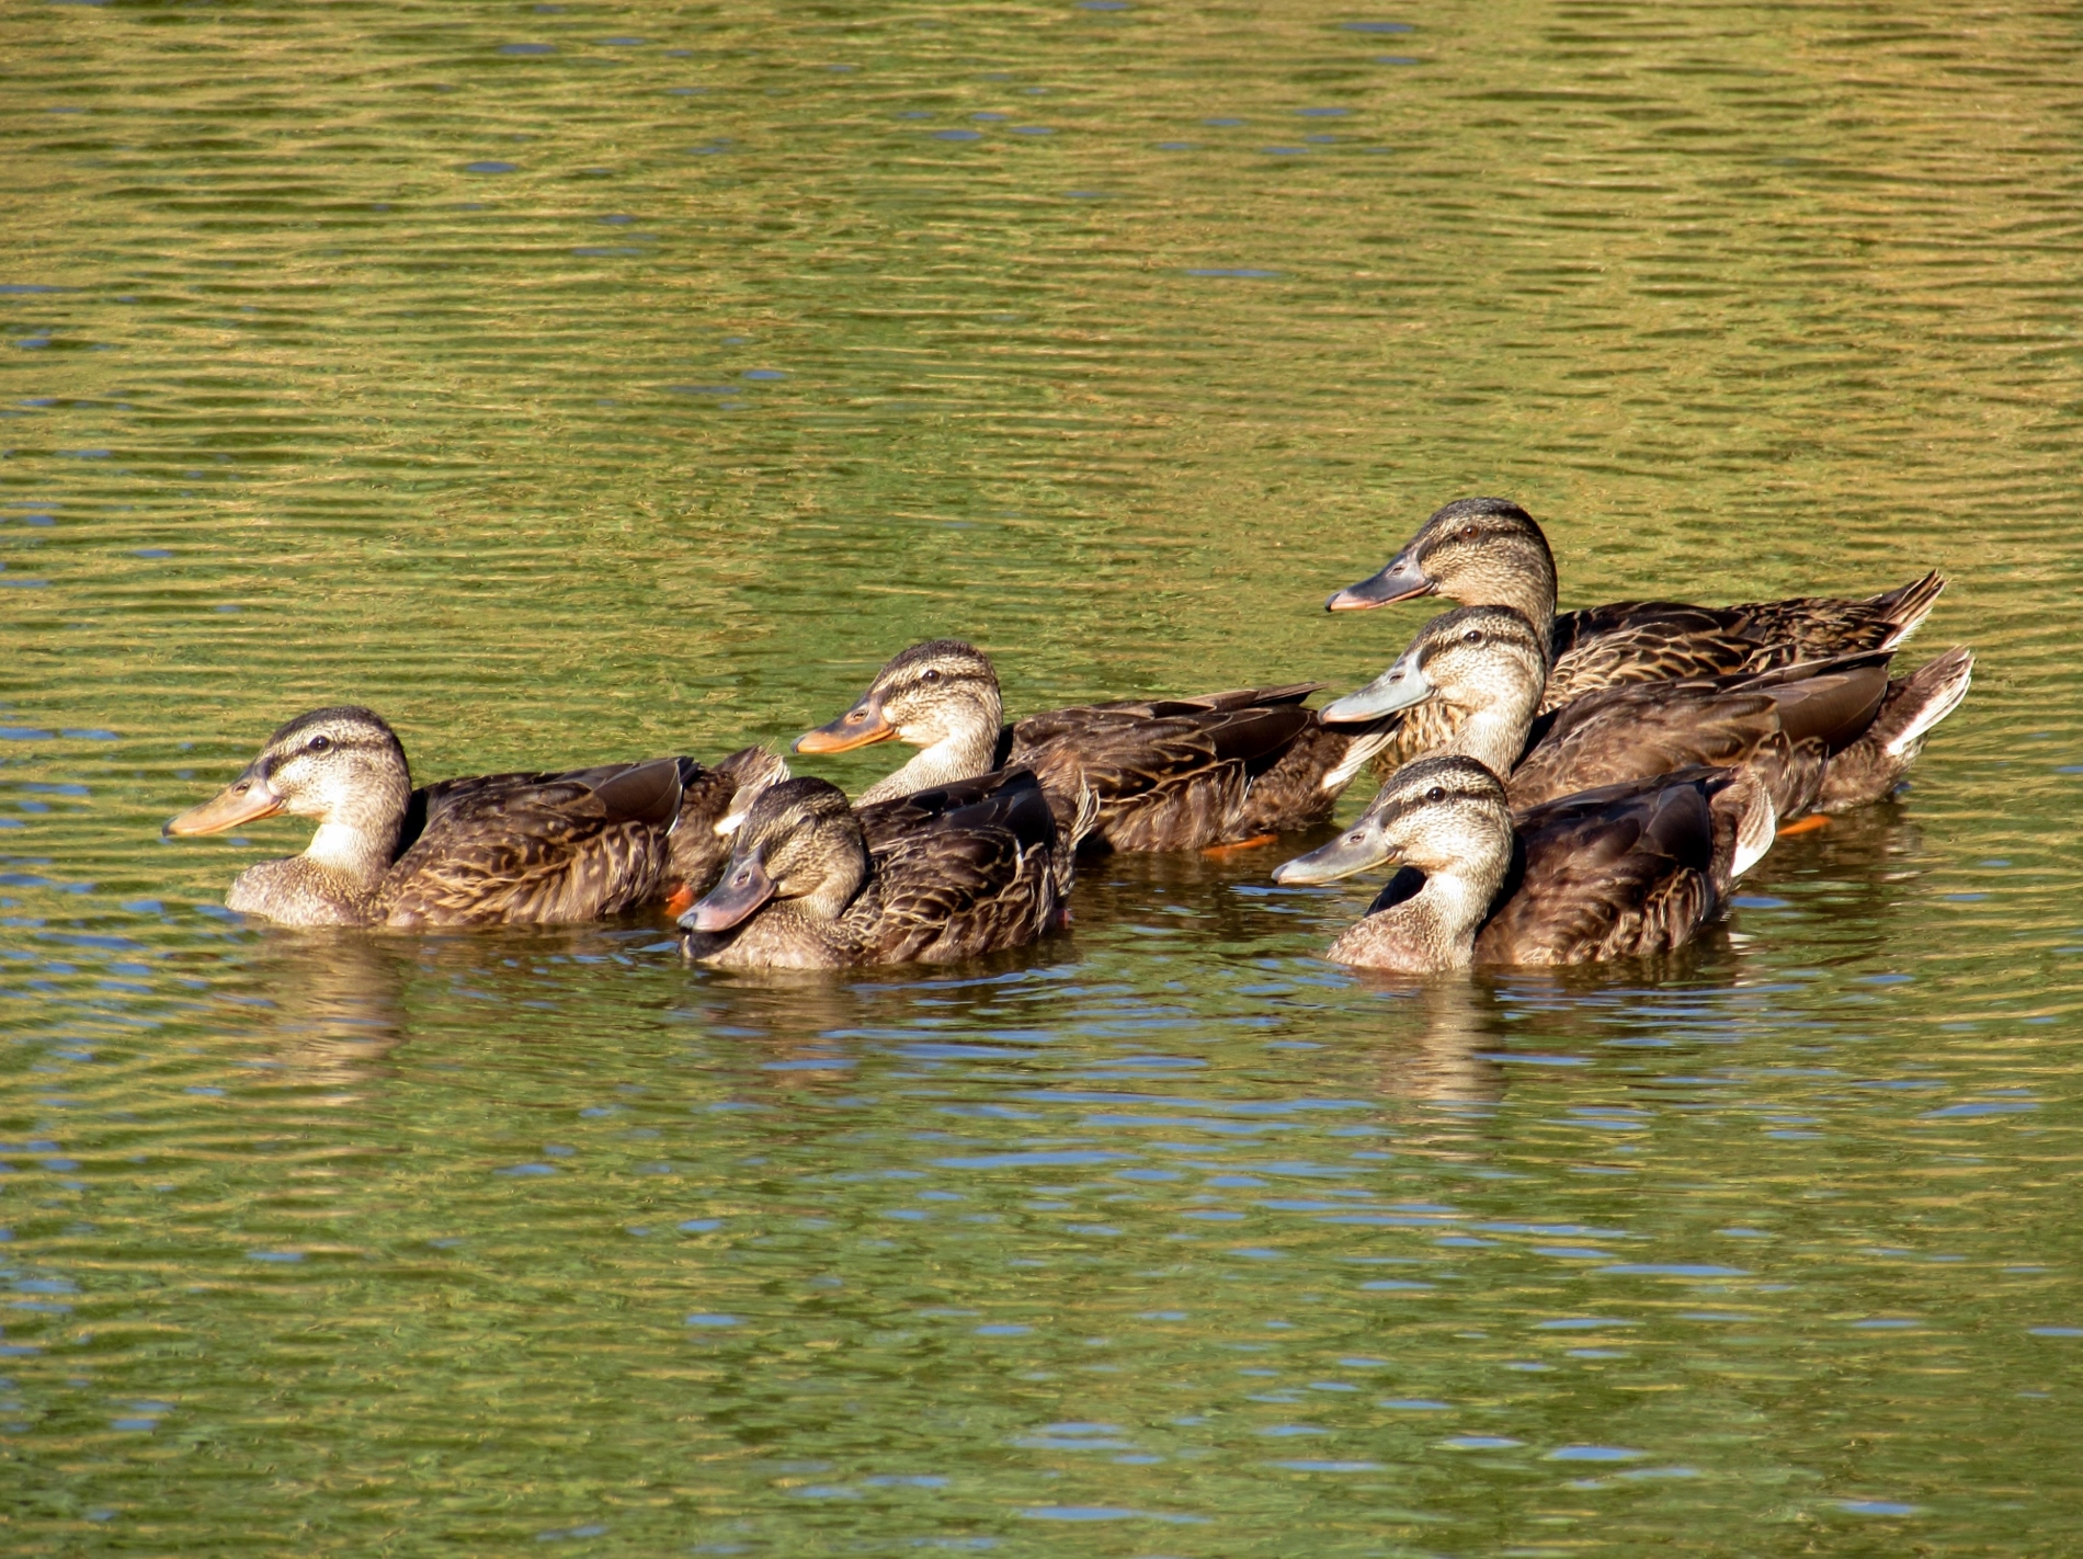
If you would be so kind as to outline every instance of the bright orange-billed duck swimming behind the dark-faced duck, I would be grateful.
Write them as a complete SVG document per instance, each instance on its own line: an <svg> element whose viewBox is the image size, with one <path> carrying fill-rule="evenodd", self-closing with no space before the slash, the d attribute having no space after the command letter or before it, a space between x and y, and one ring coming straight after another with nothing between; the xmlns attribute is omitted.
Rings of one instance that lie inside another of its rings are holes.
<svg viewBox="0 0 2083 1559"><path fill-rule="evenodd" d="M929 640L883 665L852 709L804 732L794 750L917 746L862 805L1017 765L1035 773L1060 827L1083 794L1098 796L1087 836L1098 848L1231 846L1329 819L1385 740L1364 725L1331 729L1304 709L1323 686L1077 704L1006 725L992 659L962 640Z"/></svg>

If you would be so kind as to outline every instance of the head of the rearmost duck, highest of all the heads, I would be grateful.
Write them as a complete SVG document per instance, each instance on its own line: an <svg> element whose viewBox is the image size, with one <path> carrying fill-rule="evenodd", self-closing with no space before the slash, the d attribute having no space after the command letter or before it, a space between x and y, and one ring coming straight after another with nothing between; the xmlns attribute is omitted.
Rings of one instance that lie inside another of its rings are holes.
<svg viewBox="0 0 2083 1559"><path fill-rule="evenodd" d="M1456 498L1379 573L1346 586L1323 607L1366 611L1414 596L1514 607L1546 632L1556 611L1556 561L1541 527L1510 498Z"/></svg>

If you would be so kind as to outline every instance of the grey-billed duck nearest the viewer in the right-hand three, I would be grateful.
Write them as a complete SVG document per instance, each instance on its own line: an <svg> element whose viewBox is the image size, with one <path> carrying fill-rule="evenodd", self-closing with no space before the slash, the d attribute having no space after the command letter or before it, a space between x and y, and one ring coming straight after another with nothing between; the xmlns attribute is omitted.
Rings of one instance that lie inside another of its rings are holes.
<svg viewBox="0 0 2083 1559"><path fill-rule="evenodd" d="M1764 786L1739 769L1587 790L1514 819L1498 775L1448 754L1406 763L1352 827L1273 880L1402 863L1331 944L1337 963L1406 973L1596 963L1689 942L1771 848L1775 825Z"/></svg>

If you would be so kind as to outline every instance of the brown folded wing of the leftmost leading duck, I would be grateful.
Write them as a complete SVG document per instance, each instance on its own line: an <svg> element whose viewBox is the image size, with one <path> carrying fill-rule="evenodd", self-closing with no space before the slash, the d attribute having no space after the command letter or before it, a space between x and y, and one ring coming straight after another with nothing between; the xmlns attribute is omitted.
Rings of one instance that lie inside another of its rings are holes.
<svg viewBox="0 0 2083 1559"><path fill-rule="evenodd" d="M552 923L646 902L667 867L679 773L679 759L652 759L456 782L431 796L419 838L392 865L381 919Z"/></svg>

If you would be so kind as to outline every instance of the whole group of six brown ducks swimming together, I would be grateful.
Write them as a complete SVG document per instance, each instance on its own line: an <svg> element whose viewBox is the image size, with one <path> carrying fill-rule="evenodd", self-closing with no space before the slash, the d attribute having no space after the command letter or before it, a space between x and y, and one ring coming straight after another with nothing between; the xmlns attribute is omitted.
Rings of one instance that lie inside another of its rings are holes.
<svg viewBox="0 0 2083 1559"><path fill-rule="evenodd" d="M989 659L917 644L796 740L919 748L856 800L748 746L415 790L375 713L283 725L212 800L219 834L312 817L304 855L227 905L294 925L583 921L662 907L687 955L733 967L948 963L1069 921L1079 852L1252 844L1381 792L1283 884L1398 871L1329 957L1429 971L1677 948L1796 819L1887 796L1966 696L1950 650L1889 677L1937 573L1862 600L1614 602L1556 613L1539 525L1504 498L1437 511L1329 611L1462 602L1358 692L1321 684L1081 704L1006 723Z"/></svg>

